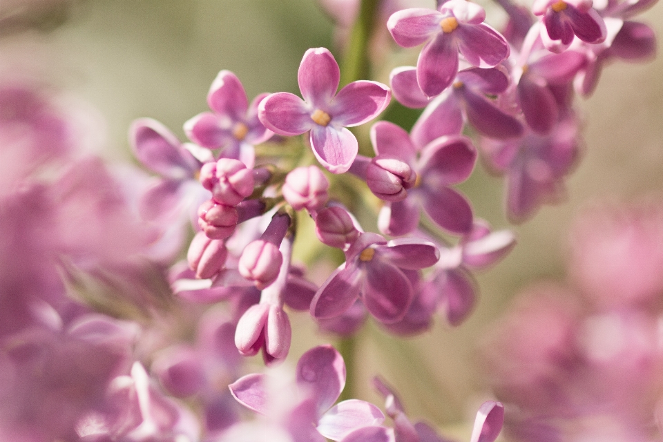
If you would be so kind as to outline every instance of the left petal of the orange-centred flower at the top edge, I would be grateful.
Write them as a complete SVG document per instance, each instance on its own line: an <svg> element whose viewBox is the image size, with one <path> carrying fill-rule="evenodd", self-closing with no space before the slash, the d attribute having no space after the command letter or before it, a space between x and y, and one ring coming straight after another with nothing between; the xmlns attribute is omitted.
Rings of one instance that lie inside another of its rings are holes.
<svg viewBox="0 0 663 442"><path fill-rule="evenodd" d="M387 29L398 46L412 48L440 32L442 15L425 8L410 8L394 12L387 20Z"/></svg>

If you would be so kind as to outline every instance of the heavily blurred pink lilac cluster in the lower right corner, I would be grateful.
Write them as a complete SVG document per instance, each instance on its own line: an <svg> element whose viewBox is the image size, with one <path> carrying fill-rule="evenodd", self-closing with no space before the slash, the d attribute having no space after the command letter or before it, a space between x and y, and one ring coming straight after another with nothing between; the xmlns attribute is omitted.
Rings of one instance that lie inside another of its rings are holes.
<svg viewBox="0 0 663 442"><path fill-rule="evenodd" d="M515 441L658 440L662 423L663 206L586 210L570 280L528 289L484 361Z"/></svg>

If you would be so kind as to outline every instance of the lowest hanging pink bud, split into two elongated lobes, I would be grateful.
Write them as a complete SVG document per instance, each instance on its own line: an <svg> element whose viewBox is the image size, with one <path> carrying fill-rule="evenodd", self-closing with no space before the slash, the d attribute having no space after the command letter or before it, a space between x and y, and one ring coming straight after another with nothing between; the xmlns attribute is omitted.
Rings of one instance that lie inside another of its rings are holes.
<svg viewBox="0 0 663 442"><path fill-rule="evenodd" d="M290 351L292 329L288 315L278 305L256 304L244 312L237 323L235 345L244 356L262 348L265 362L282 360Z"/></svg>

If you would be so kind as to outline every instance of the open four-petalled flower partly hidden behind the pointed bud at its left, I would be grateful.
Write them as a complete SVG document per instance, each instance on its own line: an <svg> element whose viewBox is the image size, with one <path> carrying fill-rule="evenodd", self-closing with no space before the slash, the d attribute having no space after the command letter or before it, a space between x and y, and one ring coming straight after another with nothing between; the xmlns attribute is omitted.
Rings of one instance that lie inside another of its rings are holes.
<svg viewBox="0 0 663 442"><path fill-rule="evenodd" d="M426 124L434 126L432 121ZM434 131L436 128L430 132ZM443 229L466 233L472 228L469 202L450 185L470 176L477 151L470 139L462 135L433 137L421 130L413 131L411 139L407 132L390 122L378 122L371 128L371 141L378 157L392 155L410 164L416 173L416 183L407 190L407 198L383 207L378 227L384 233L399 236L414 231L419 224L420 204ZM357 169L358 175L365 173Z"/></svg>

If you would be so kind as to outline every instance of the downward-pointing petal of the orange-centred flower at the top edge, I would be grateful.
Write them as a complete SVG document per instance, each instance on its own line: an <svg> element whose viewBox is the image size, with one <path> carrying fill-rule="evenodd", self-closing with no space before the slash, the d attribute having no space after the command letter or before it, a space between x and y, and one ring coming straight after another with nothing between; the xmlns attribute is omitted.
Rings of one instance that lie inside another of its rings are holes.
<svg viewBox="0 0 663 442"><path fill-rule="evenodd" d="M458 73L458 43L453 33L440 32L423 47L416 62L416 81L427 97L451 86Z"/></svg>

